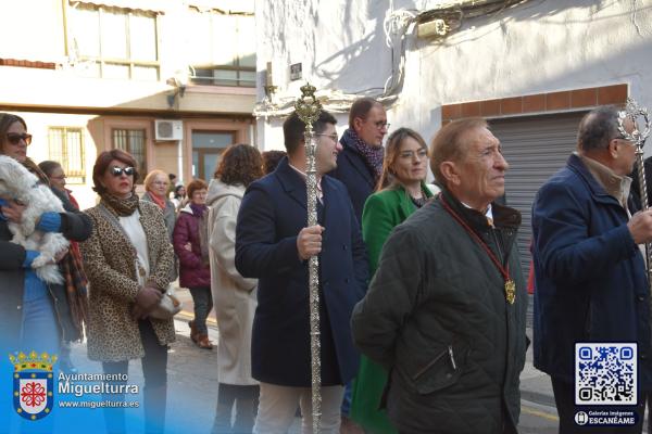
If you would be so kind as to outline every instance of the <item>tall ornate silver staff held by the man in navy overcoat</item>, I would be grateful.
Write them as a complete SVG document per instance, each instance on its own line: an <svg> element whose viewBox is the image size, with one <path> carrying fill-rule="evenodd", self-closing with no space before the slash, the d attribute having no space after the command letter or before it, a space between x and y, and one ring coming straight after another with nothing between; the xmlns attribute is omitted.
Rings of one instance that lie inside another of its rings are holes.
<svg viewBox="0 0 652 434"><path fill-rule="evenodd" d="M308 226L317 225L316 144L313 124L319 118L322 103L315 98L315 87L306 82L301 87L301 98L294 103L299 118L305 124L305 192L308 196ZM310 290L310 349L312 374L313 433L319 434L322 419L322 362L319 343L319 257L311 256L308 263Z"/></svg>

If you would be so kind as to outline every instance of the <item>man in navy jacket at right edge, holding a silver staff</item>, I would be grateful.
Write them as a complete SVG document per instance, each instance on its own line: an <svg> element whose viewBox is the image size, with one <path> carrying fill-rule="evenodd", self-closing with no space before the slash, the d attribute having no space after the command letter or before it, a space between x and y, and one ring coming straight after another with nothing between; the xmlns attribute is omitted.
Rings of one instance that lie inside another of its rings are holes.
<svg viewBox="0 0 652 434"><path fill-rule="evenodd" d="M532 205L535 366L552 376L561 433L581 430L574 420L576 342L637 342L639 391L652 390L650 288L637 245L652 241L652 212L630 217L635 152L618 131L616 108L595 108L579 125L578 151ZM642 422L644 396L638 405L619 409L638 411Z"/></svg>

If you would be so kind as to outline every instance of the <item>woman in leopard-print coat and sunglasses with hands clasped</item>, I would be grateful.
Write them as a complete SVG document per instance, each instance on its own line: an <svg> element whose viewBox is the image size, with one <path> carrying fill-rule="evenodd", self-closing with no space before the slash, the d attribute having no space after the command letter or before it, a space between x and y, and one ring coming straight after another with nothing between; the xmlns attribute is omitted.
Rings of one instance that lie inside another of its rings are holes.
<svg viewBox="0 0 652 434"><path fill-rule="evenodd" d="M170 284L174 252L160 208L135 193L137 164L130 154L102 152L92 168L99 205L87 209L93 222L80 244L91 284L88 357L104 373L127 374L140 359L145 376L146 432L162 432L167 394L167 344L174 342L172 317L152 315ZM110 395L106 399L115 399ZM104 412L109 432L124 432L124 410Z"/></svg>

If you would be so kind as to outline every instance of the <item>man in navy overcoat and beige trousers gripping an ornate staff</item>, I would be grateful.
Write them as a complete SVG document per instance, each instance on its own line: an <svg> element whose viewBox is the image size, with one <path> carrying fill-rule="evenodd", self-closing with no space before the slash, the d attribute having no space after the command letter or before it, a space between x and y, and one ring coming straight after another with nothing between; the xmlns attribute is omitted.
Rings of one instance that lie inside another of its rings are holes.
<svg viewBox="0 0 652 434"><path fill-rule="evenodd" d="M259 279L251 345L252 375L261 382L254 432L286 433L297 404L312 426L308 260L319 255L322 432L339 433L343 384L358 370L350 318L365 292L366 251L347 188L324 174L341 146L336 119L322 112L313 124L319 186L318 225L306 225L305 125L284 123L288 156L247 190L236 228L236 267Z"/></svg>

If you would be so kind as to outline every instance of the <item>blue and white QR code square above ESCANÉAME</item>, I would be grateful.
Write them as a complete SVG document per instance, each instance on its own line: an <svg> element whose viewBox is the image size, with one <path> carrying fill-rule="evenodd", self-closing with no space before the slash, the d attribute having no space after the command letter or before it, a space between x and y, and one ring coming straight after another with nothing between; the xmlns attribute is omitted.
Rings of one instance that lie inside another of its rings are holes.
<svg viewBox="0 0 652 434"><path fill-rule="evenodd" d="M576 343L575 405L636 405L636 343Z"/></svg>

